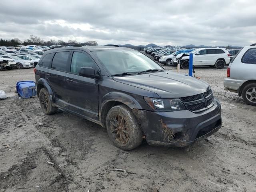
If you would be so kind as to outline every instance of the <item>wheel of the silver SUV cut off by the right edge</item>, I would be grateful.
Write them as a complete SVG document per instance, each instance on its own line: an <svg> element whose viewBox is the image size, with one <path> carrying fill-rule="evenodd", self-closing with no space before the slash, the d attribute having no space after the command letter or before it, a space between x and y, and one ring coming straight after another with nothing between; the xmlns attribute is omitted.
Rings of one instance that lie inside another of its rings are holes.
<svg viewBox="0 0 256 192"><path fill-rule="evenodd" d="M250 83L243 88L242 98L247 104L256 106L256 83Z"/></svg>

